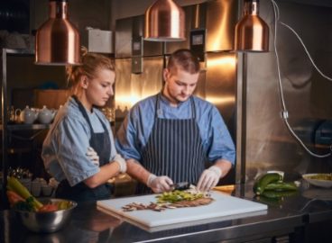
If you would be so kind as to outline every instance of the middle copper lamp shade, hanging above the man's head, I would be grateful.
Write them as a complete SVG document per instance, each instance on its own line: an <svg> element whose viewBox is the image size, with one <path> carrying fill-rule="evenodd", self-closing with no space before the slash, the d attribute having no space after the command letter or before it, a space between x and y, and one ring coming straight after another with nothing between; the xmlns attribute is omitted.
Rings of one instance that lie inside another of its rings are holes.
<svg viewBox="0 0 332 243"><path fill-rule="evenodd" d="M144 39L180 41L185 37L185 13L172 0L157 0L145 12Z"/></svg>

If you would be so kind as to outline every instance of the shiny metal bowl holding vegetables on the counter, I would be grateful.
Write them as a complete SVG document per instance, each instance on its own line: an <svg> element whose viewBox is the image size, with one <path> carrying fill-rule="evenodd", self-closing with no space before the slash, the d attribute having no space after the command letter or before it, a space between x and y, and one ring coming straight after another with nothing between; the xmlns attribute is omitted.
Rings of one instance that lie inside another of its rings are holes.
<svg viewBox="0 0 332 243"><path fill-rule="evenodd" d="M69 201L64 199L40 200L42 203ZM51 233L61 229L69 220L73 209L78 205L77 202L69 201L71 207L66 210L58 211L15 211L17 217L23 225L33 232Z"/></svg>

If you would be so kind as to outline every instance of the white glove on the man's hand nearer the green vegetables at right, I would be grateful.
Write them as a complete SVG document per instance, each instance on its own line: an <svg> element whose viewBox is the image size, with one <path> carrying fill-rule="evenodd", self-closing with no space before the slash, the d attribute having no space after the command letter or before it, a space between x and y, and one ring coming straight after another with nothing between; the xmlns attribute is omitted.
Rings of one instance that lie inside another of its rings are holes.
<svg viewBox="0 0 332 243"><path fill-rule="evenodd" d="M212 187L215 187L220 179L222 171L217 166L210 166L208 169L204 170L202 175L200 175L197 189L199 191L209 191Z"/></svg>

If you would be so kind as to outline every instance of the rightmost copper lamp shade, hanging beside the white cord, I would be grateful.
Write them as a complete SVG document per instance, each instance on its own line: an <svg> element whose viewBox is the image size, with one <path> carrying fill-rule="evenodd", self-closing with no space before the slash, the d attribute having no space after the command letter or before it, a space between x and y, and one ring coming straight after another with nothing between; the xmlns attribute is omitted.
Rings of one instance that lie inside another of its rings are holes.
<svg viewBox="0 0 332 243"><path fill-rule="evenodd" d="M269 26L258 13L258 0L244 0L244 16L235 26L235 50L269 51Z"/></svg>

